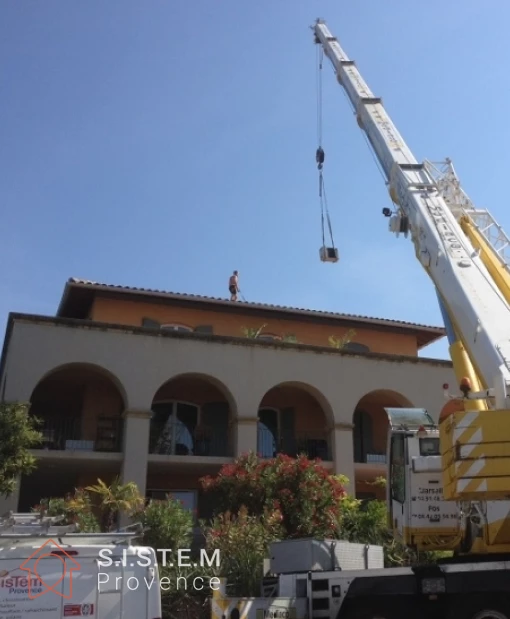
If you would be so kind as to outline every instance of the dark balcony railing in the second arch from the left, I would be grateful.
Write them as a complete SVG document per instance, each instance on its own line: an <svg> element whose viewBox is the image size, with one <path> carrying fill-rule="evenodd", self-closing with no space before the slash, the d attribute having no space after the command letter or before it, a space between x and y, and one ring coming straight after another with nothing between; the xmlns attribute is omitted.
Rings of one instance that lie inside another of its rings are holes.
<svg viewBox="0 0 510 619"><path fill-rule="evenodd" d="M229 457L228 436L213 427L192 428L178 422L151 423L149 453L163 456Z"/></svg>

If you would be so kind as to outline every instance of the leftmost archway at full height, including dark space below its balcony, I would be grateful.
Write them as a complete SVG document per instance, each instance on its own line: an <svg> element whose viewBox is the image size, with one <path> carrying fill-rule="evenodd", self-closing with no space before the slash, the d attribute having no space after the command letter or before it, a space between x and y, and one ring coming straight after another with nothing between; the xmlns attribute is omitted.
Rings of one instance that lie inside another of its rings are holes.
<svg viewBox="0 0 510 619"><path fill-rule="evenodd" d="M18 510L64 497L98 477L111 483L120 473L124 409L122 386L101 367L69 364L44 376L30 398L42 444L36 470L21 480Z"/></svg>

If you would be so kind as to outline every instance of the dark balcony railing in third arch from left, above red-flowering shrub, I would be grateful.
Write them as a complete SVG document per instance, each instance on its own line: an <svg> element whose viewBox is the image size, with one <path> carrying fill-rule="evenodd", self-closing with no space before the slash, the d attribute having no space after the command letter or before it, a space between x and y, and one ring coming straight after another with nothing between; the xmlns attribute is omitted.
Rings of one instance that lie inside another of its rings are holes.
<svg viewBox="0 0 510 619"><path fill-rule="evenodd" d="M259 426L257 452L262 458L274 458L279 453L296 457L304 454L311 460L331 460L327 439L313 433L297 433L288 437L275 437L266 427Z"/></svg>

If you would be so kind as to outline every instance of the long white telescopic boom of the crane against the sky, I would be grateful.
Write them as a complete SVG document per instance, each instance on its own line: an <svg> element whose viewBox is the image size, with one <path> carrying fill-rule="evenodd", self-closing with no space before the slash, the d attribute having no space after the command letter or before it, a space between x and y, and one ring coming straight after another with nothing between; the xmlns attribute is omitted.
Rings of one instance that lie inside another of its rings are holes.
<svg viewBox="0 0 510 619"><path fill-rule="evenodd" d="M393 231L405 231L408 224L416 256L434 282L485 389L491 390L496 408L510 408L510 307L441 196L435 179L414 158L381 99L373 95L325 23L317 20L313 30L401 209L403 219L392 219Z"/></svg>

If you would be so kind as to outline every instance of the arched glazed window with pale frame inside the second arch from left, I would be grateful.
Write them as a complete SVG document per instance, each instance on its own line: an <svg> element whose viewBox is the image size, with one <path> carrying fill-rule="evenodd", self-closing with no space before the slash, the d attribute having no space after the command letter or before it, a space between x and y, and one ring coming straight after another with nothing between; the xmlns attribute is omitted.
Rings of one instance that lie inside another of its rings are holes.
<svg viewBox="0 0 510 619"><path fill-rule="evenodd" d="M152 410L151 453L175 456L193 454L198 406L186 402L157 402Z"/></svg>

